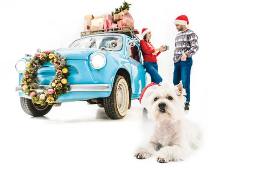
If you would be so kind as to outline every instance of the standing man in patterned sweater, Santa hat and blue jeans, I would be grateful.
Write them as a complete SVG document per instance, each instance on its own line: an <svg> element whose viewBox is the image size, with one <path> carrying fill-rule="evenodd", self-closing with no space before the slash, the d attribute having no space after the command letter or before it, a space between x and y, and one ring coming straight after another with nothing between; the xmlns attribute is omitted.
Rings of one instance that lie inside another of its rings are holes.
<svg viewBox="0 0 256 170"><path fill-rule="evenodd" d="M177 34L174 51L173 84L177 85L180 80L186 89L185 110L189 110L190 102L190 71L192 67L192 55L198 51L198 37L189 28L189 20L186 15L180 15L174 21L176 29L181 31Z"/></svg>

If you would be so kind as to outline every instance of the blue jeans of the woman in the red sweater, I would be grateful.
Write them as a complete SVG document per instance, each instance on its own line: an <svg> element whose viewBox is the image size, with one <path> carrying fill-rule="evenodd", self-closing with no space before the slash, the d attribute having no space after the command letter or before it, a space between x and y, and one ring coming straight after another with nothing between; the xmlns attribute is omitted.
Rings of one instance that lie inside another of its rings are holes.
<svg viewBox="0 0 256 170"><path fill-rule="evenodd" d="M151 77L151 82L159 84L163 81L162 77L158 74L157 62L144 62L144 68Z"/></svg>

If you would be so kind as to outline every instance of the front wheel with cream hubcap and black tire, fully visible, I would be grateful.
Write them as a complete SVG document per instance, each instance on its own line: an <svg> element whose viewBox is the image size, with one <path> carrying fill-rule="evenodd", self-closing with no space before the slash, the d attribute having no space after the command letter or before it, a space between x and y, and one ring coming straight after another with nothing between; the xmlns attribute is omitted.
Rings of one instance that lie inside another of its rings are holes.
<svg viewBox="0 0 256 170"><path fill-rule="evenodd" d="M103 98L105 113L110 119L122 119L129 106L129 89L124 77L116 75L110 96Z"/></svg>

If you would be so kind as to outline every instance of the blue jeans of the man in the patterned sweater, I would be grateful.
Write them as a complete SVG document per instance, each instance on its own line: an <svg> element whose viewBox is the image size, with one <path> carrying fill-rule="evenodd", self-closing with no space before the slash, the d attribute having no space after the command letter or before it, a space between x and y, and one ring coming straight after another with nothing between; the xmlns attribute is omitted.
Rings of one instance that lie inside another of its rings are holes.
<svg viewBox="0 0 256 170"><path fill-rule="evenodd" d="M192 57L186 61L174 63L173 84L177 85L182 82L183 88L186 90L186 103L190 102L190 71L193 64Z"/></svg>

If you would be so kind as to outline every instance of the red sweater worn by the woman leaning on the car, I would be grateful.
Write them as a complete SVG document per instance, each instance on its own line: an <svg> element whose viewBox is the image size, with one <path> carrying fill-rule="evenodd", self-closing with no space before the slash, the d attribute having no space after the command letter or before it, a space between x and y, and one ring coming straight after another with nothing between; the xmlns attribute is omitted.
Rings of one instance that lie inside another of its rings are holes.
<svg viewBox="0 0 256 170"><path fill-rule="evenodd" d="M144 62L157 62L157 56L161 53L158 51L154 52L154 46L146 42L145 40L140 40L140 48L143 55Z"/></svg>

